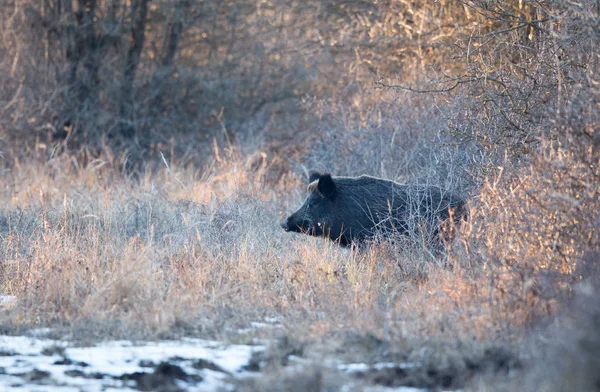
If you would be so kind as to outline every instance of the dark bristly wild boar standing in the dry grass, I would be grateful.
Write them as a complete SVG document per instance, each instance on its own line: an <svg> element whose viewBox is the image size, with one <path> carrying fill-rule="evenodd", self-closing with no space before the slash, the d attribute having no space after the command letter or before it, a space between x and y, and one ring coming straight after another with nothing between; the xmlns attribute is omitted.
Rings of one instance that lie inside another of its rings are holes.
<svg viewBox="0 0 600 392"><path fill-rule="evenodd" d="M398 184L366 175L313 173L308 192L302 207L281 227L328 237L343 246L378 234L409 234L423 224L437 236L441 222L466 215L465 201L439 187Z"/></svg>

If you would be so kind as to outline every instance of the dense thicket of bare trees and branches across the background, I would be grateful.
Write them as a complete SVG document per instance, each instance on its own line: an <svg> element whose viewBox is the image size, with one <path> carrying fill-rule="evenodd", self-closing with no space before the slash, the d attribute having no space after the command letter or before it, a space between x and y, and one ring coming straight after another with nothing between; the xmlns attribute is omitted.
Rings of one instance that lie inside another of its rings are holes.
<svg viewBox="0 0 600 392"><path fill-rule="evenodd" d="M451 133L513 155L596 112L591 1L2 3L1 132L30 147L283 138L313 124L302 97L349 102L376 82L451 91Z"/></svg>

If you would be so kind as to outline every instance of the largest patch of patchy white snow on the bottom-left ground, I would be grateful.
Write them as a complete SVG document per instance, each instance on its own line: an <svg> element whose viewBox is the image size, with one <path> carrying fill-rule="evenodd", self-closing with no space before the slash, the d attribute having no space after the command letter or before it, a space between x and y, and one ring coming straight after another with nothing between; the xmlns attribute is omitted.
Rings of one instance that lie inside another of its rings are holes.
<svg viewBox="0 0 600 392"><path fill-rule="evenodd" d="M134 390L134 381L125 382L116 377L136 372L152 373L154 367L141 365L144 365L144 362L159 364L169 361L181 367L187 375L203 378L201 382L189 384L177 380L178 384L184 384L182 386L185 386L185 389L212 391L227 386L224 381L227 373L235 376L245 375L247 372L244 372L243 366L248 364L253 352L261 350L264 350L264 346L227 346L201 339L139 344L112 341L91 347L72 347L64 341L0 335L0 369L3 370L0 373L0 390ZM51 355L44 355L42 352ZM71 363L56 364L64 358L69 359ZM194 362L199 359L210 361L224 372L194 368ZM34 370L48 372L50 376L41 377L39 380L28 380L26 376L19 376Z"/></svg>

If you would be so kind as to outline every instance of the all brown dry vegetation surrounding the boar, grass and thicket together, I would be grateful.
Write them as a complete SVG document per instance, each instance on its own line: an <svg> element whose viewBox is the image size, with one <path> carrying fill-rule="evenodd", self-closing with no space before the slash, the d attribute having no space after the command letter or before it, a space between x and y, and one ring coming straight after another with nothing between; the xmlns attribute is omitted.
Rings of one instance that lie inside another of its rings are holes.
<svg viewBox="0 0 600 392"><path fill-rule="evenodd" d="M422 3L3 0L2 328L240 339L277 316L318 358L444 387L597 387L597 306L565 308L598 290L598 4ZM444 255L291 236L310 170L438 185L470 218ZM335 389L319 363L306 383Z"/></svg>

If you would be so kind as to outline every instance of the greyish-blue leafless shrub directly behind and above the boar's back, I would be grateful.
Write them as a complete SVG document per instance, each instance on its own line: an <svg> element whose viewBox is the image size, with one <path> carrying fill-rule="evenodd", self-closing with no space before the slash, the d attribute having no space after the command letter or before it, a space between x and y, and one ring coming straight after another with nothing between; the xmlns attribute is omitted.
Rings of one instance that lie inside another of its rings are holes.
<svg viewBox="0 0 600 392"><path fill-rule="evenodd" d="M377 103L372 99L367 95L366 102L351 110L343 103L313 106L321 119L315 129L319 137L307 143L303 169L335 168L335 175L369 174L401 183L438 185L458 194L472 189L469 170L474 151L442 134L442 108L431 100L406 96Z"/></svg>

